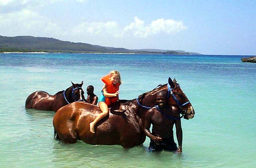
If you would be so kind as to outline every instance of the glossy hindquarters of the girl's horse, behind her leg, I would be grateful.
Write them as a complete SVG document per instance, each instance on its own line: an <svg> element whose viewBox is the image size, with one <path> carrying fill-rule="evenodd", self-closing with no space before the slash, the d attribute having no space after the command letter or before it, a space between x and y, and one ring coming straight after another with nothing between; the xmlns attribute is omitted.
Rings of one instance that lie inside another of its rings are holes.
<svg viewBox="0 0 256 168"><path fill-rule="evenodd" d="M95 118L94 111L100 113L98 106L84 102L73 102L57 110L53 117L54 130L64 143L75 143L81 134L90 133L90 122Z"/></svg>

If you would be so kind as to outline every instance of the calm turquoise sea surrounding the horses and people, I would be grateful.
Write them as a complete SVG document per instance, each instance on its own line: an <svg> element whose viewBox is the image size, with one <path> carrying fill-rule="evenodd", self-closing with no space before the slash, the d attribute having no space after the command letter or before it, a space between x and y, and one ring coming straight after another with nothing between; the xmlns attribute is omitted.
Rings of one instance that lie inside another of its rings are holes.
<svg viewBox="0 0 256 168"><path fill-rule="evenodd" d="M242 63L242 57L0 54L0 167L256 167L256 64ZM83 90L93 85L99 95L100 78L110 70L121 73L120 99L176 78L195 109L192 120L181 121L182 155L149 153L149 138L128 150L82 141L62 144L53 138L54 112L25 109L30 93L55 94L71 81L84 81Z"/></svg>

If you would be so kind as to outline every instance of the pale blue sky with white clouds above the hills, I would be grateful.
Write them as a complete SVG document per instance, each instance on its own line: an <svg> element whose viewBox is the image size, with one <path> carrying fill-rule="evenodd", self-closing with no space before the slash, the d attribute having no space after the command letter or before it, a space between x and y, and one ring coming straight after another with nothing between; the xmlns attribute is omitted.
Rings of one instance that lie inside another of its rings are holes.
<svg viewBox="0 0 256 168"><path fill-rule="evenodd" d="M256 1L0 0L0 35L256 55Z"/></svg>

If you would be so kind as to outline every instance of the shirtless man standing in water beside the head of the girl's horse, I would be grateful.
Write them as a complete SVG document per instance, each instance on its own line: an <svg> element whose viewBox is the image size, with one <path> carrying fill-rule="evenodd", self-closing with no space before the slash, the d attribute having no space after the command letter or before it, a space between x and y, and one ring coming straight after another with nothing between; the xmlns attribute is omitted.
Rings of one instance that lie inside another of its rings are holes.
<svg viewBox="0 0 256 168"><path fill-rule="evenodd" d="M182 129L179 109L168 105L167 92L157 93L157 107L146 112L144 132L150 138L150 152L172 151L182 152ZM150 132L150 125L152 133ZM176 127L176 136L179 147L177 148L173 138L173 125Z"/></svg>

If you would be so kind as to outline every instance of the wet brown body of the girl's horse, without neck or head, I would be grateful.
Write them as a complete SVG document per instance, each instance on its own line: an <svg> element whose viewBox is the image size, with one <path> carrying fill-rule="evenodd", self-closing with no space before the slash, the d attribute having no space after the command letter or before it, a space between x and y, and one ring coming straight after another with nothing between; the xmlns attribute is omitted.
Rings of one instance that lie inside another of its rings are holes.
<svg viewBox="0 0 256 168"><path fill-rule="evenodd" d="M87 144L120 144L124 147L138 145L135 140L137 136L141 139L141 130L135 130L132 116L127 116L125 113L110 112L108 116L97 123L95 134L90 133L90 122L99 113L101 111L98 106L74 102L56 112L53 126L64 143L75 143L77 140L82 140Z"/></svg>

